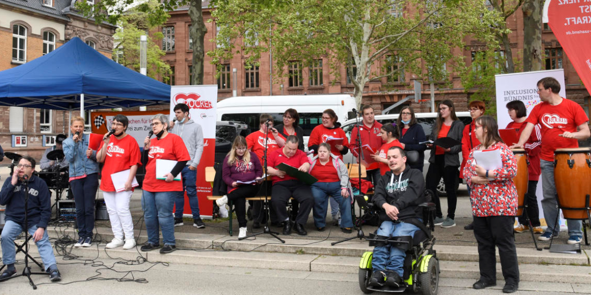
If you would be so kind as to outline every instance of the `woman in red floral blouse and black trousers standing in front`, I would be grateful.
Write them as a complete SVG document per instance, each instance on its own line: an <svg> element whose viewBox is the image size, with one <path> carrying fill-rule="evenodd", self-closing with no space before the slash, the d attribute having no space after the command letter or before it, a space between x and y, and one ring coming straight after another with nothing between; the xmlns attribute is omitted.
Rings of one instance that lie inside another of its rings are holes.
<svg viewBox="0 0 591 295"><path fill-rule="evenodd" d="M513 178L517 175L517 159L501 140L493 117L478 117L474 125L476 137L482 144L470 152L463 171L471 188L474 236L478 241L480 278L473 288L484 289L496 285L496 246L499 248L501 270L505 278L503 292L513 293L519 286L519 266L513 235L517 211L517 189ZM479 166L474 155L482 150L499 150L502 166L492 170Z"/></svg>

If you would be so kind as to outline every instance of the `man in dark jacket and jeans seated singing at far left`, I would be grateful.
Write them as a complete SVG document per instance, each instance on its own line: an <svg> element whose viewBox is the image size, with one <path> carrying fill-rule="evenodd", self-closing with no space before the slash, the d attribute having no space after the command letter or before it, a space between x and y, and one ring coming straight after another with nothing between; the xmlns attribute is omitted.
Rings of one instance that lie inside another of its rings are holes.
<svg viewBox="0 0 591 295"><path fill-rule="evenodd" d="M0 275L0 280L12 277L17 273L14 267L16 250L14 240L25 228L27 216L28 232L33 235L45 270L51 281L61 280L57 270L56 256L53 254L47 235L47 223L51 217L51 195L43 179L33 175L35 160L30 156L18 161L17 169L7 178L0 191L0 205L6 205L6 223L2 230L2 263L7 267ZM26 183L28 182L28 183ZM27 189L28 192L25 192ZM27 211L25 212L25 194L28 194Z"/></svg>

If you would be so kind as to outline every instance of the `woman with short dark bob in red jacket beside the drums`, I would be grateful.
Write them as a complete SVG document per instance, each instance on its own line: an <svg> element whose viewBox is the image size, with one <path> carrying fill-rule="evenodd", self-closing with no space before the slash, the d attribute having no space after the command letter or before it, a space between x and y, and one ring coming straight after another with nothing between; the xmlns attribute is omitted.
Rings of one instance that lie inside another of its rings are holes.
<svg viewBox="0 0 591 295"><path fill-rule="evenodd" d="M506 129L515 129L517 132L517 138L521 136L523 129L527 122L527 109L525 108L525 104L521 100L513 100L509 101L506 105L509 117L513 122L509 123ZM527 142L525 142L524 149L527 155L527 159L530 162L530 165L527 165L527 172L528 172L528 182L527 182L527 192L524 196L524 205L527 205L527 216L530 218L529 220L525 218L525 214L518 217L519 226L515 228L515 232L524 232L530 229L528 225L531 221L531 226L533 227L534 234L543 234L544 230L541 228L540 224L540 211L538 209L538 198L535 195L535 189L538 186L538 181L540 180L540 153L542 150L542 130L540 124L536 124L534 126L534 130L531 132L530 138L528 138ZM511 142L510 142L511 143Z"/></svg>

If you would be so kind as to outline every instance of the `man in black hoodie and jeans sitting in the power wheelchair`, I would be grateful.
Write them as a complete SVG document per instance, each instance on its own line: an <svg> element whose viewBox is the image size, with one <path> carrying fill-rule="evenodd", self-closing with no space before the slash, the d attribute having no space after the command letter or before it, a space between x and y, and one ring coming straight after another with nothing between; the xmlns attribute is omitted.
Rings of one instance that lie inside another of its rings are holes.
<svg viewBox="0 0 591 295"><path fill-rule="evenodd" d="M382 175L375 187L374 205L381 208L379 219L382 224L378 228L378 238L413 237L419 228L410 222L410 218L421 218L418 204L423 202L425 180L423 173L406 165L406 154L401 148L394 146L388 149L388 166L390 171ZM404 257L401 248L383 244L374 248L372 274L369 284L375 287L400 287L404 275Z"/></svg>

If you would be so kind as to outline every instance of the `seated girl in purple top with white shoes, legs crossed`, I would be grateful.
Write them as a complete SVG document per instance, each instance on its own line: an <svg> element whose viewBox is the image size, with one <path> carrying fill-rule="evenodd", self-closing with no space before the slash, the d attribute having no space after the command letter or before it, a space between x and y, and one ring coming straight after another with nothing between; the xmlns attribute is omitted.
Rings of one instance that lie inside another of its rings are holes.
<svg viewBox="0 0 591 295"><path fill-rule="evenodd" d="M262 179L254 180L262 176L262 165L254 152L248 152L243 136L236 136L222 165L222 179L228 185L228 195L217 199L216 203L222 207L232 200L240 227L238 238L243 238L246 237L245 198L258 192Z"/></svg>

